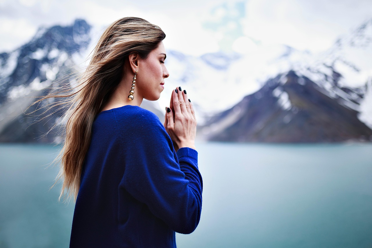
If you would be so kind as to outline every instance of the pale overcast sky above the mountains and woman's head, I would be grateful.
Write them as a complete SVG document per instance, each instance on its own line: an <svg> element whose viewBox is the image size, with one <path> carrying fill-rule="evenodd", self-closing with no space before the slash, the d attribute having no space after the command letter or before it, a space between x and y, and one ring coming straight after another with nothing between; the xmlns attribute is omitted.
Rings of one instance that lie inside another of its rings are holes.
<svg viewBox="0 0 372 248"><path fill-rule="evenodd" d="M138 16L166 32L166 49L201 55L286 44L319 52L372 18L371 0L0 0L0 51L29 41L39 26L84 18L99 34L123 16Z"/></svg>

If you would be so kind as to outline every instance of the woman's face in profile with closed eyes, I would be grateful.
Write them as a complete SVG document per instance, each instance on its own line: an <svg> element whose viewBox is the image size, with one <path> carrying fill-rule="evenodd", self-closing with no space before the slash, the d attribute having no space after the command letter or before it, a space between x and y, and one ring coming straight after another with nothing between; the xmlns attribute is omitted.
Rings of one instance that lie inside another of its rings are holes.
<svg viewBox="0 0 372 248"><path fill-rule="evenodd" d="M138 87L138 92L141 92L144 99L155 101L160 98L160 93L164 90L164 79L169 77L164 64L166 57L163 42L160 42L146 59L140 61L135 87Z"/></svg>

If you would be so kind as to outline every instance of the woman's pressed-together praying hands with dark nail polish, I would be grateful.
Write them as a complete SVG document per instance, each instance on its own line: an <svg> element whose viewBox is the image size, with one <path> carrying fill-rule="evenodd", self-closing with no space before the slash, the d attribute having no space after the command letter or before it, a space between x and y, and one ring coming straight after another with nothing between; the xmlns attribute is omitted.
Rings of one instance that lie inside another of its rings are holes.
<svg viewBox="0 0 372 248"><path fill-rule="evenodd" d="M187 99L186 90L182 91L181 87L173 90L170 108L167 108L165 114L164 127L176 151L181 147L195 149L196 124L194 108Z"/></svg>

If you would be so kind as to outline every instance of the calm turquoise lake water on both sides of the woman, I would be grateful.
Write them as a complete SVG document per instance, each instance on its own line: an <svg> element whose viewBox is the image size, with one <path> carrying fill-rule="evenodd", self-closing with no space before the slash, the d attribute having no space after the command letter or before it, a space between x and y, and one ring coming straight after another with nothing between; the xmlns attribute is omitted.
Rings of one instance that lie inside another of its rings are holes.
<svg viewBox="0 0 372 248"><path fill-rule="evenodd" d="M372 144L198 143L203 207L177 247L372 247ZM0 145L0 247L68 247L58 148Z"/></svg>

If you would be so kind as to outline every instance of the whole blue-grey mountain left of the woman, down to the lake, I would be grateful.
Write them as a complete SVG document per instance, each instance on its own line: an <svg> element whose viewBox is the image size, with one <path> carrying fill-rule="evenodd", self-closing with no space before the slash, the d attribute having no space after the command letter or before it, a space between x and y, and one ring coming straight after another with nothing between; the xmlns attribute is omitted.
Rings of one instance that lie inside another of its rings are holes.
<svg viewBox="0 0 372 248"><path fill-rule="evenodd" d="M56 141L57 129L48 131L61 117L62 109L42 114L46 109L37 108L46 102L27 108L47 94L48 86L70 82L71 56L89 44L90 28L86 21L76 20L71 26L40 29L27 44L0 54L0 142Z"/></svg>

